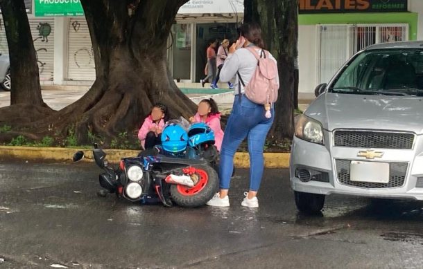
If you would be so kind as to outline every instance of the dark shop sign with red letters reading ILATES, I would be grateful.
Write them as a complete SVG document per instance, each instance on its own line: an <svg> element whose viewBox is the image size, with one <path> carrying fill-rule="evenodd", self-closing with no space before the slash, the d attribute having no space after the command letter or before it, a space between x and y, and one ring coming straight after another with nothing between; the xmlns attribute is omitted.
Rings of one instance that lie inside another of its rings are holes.
<svg viewBox="0 0 423 269"><path fill-rule="evenodd" d="M407 0L300 0L300 14L406 12Z"/></svg>

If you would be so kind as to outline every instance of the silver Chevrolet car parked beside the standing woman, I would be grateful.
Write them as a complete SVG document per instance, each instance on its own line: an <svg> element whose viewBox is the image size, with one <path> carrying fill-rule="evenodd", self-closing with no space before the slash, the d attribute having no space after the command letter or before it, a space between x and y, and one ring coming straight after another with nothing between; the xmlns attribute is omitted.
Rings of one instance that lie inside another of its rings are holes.
<svg viewBox="0 0 423 269"><path fill-rule="evenodd" d="M423 41L370 46L315 93L291 152L300 212L329 194L423 200Z"/></svg>

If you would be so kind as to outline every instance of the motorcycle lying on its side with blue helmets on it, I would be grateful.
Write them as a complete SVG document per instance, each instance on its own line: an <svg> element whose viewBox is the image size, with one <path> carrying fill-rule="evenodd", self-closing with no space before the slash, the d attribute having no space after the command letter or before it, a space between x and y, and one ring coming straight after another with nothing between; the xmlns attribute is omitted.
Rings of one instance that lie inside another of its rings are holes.
<svg viewBox="0 0 423 269"><path fill-rule="evenodd" d="M218 190L217 151L213 131L205 124L185 130L178 122L166 124L162 146L142 151L137 157L123 158L119 167L110 167L106 153L94 145L101 187L119 198L141 203L173 203L181 207L205 205ZM74 161L85 156L74 155Z"/></svg>

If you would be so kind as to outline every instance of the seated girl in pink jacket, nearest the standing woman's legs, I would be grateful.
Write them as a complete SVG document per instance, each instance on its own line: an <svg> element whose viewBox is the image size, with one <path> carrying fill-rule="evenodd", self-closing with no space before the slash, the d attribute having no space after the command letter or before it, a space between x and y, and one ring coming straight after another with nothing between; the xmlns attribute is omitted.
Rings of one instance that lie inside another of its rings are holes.
<svg viewBox="0 0 423 269"><path fill-rule="evenodd" d="M221 151L223 130L221 127L221 113L219 113L216 102L204 99L198 104L198 112L190 118L191 122L205 122L214 131L214 145Z"/></svg>

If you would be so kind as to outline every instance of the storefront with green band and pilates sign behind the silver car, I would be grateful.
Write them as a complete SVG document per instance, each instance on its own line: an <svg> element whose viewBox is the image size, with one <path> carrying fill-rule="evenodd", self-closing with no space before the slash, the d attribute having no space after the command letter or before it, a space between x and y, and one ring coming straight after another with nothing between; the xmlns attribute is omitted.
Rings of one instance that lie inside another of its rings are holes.
<svg viewBox="0 0 423 269"><path fill-rule="evenodd" d="M423 10L410 2L301 0L299 91L313 93L316 85L329 82L349 57L367 46L416 40L419 14L412 8Z"/></svg>

